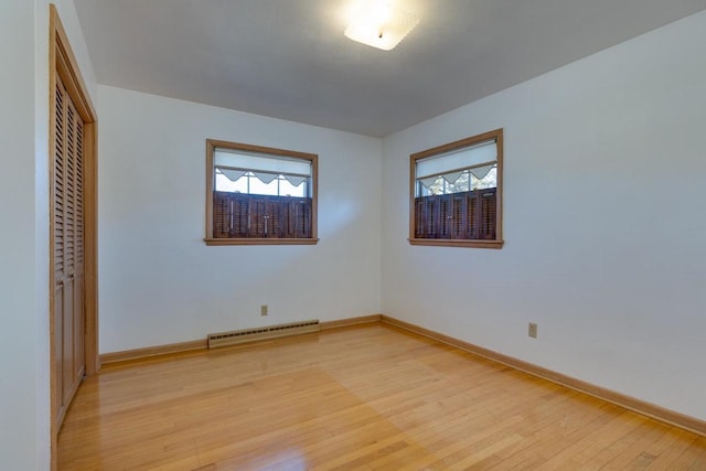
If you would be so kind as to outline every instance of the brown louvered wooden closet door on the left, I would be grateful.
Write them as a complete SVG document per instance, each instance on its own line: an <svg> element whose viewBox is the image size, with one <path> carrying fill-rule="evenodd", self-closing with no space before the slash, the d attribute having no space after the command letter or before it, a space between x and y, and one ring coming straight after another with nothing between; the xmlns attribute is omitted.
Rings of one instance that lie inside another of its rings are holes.
<svg viewBox="0 0 706 471"><path fill-rule="evenodd" d="M54 332L58 421L84 372L84 122L57 77L54 154Z"/></svg>

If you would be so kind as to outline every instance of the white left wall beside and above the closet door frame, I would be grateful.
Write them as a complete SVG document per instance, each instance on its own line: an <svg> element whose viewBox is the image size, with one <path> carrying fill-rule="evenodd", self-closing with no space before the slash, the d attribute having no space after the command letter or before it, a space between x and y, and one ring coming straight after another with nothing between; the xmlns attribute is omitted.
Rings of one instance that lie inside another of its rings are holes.
<svg viewBox="0 0 706 471"><path fill-rule="evenodd" d="M57 10L85 54L71 0ZM82 52L83 51L83 52ZM50 467L49 362L49 2L0 3L0 469Z"/></svg>

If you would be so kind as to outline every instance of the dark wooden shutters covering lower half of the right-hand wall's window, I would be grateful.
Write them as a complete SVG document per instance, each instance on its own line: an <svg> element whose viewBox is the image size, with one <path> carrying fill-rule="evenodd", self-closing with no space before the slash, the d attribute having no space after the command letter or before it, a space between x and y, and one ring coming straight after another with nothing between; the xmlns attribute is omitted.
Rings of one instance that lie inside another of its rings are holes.
<svg viewBox="0 0 706 471"><path fill-rule="evenodd" d="M495 238L496 189L415 199L415 237L437 239Z"/></svg>

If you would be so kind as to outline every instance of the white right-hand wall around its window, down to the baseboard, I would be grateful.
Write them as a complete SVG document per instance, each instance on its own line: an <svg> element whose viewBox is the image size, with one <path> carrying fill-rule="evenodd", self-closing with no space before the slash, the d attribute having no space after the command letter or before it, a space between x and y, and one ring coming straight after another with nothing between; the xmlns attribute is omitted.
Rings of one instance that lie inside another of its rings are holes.
<svg viewBox="0 0 706 471"><path fill-rule="evenodd" d="M383 312L706 419L704 44L706 12L386 138ZM409 154L499 127L504 248L409 246Z"/></svg>

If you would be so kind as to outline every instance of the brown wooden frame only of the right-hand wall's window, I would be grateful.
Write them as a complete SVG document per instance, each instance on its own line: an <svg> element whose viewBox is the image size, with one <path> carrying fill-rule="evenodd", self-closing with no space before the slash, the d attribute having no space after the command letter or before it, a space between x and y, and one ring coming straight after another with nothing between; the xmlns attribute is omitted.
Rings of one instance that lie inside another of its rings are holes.
<svg viewBox="0 0 706 471"><path fill-rule="evenodd" d="M494 239L453 239L453 238L417 238L415 237L416 212L415 195L417 185L417 161L434 156L442 154L453 150L477 146L488 141L495 141L496 146L496 190L495 190L495 238ZM503 240L503 128L483 132L481 135L460 139L431 149L422 150L409 156L409 244L441 247L473 247L473 248L496 248L504 245Z"/></svg>

